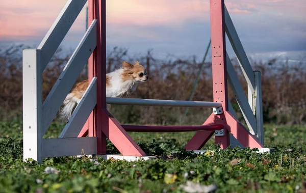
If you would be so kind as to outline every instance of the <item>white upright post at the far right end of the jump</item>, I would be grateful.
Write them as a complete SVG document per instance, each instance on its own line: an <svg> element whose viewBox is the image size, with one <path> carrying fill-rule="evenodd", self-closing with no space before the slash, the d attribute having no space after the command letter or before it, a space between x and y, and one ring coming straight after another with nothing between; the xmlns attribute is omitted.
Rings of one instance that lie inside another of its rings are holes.
<svg viewBox="0 0 306 193"><path fill-rule="evenodd" d="M263 98L261 72L254 71L256 85L256 121L257 121L257 136L260 143L264 146L264 121L263 121Z"/></svg>

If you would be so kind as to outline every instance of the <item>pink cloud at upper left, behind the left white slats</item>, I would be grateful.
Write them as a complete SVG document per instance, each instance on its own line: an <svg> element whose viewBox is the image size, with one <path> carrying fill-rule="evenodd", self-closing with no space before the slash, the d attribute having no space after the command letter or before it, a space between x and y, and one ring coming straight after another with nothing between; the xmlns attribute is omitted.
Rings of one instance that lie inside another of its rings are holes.
<svg viewBox="0 0 306 193"><path fill-rule="evenodd" d="M0 7L0 40L28 40L31 37L43 37L52 25L66 1L45 1L43 4L34 0L4 1ZM72 30L80 30L79 15L72 25Z"/></svg>

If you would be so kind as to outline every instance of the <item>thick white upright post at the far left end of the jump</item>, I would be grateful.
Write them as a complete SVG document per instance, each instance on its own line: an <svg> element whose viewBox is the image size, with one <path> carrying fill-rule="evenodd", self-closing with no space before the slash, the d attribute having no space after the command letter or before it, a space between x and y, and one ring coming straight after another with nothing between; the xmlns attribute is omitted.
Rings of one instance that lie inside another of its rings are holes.
<svg viewBox="0 0 306 193"><path fill-rule="evenodd" d="M41 110L42 76L41 50L22 51L23 160L42 162Z"/></svg>

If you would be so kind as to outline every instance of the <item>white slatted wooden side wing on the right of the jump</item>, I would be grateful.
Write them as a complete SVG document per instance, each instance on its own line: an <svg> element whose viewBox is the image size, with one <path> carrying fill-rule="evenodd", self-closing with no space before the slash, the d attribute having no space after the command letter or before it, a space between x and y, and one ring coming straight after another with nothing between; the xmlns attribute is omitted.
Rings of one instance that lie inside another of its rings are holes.
<svg viewBox="0 0 306 193"><path fill-rule="evenodd" d="M238 59L238 63L247 82L247 97L245 96L245 93L241 87L232 62L227 56L226 63L228 82L230 83L231 88L235 93L236 100L241 109L244 120L250 130L250 133L256 136L257 139L264 145L261 73L259 71L254 72L252 70L252 67L235 29L234 23L226 9L226 6L224 6L224 17L226 35L231 42L231 45ZM232 105L229 102L229 107L231 106ZM232 111L234 111L234 109L232 109ZM234 139L231 139L231 143L232 141L235 142Z"/></svg>

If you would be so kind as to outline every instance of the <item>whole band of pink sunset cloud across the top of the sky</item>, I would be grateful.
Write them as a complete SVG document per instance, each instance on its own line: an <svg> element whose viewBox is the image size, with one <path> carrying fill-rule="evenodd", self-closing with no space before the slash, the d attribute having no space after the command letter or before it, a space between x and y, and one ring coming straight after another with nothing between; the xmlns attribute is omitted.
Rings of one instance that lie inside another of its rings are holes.
<svg viewBox="0 0 306 193"><path fill-rule="evenodd" d="M66 0L2 1L0 7L0 40L27 40L43 37ZM295 20L305 18L304 0L294 4L282 0L227 0L230 14L260 15L274 13ZM202 0L109 0L107 24L112 25L171 25L180 27L188 20L209 21L209 1ZM85 9L71 27L71 31L85 30ZM137 33L137 32L136 32ZM146 34L148 38L154 35Z"/></svg>

